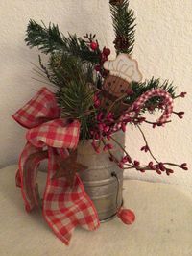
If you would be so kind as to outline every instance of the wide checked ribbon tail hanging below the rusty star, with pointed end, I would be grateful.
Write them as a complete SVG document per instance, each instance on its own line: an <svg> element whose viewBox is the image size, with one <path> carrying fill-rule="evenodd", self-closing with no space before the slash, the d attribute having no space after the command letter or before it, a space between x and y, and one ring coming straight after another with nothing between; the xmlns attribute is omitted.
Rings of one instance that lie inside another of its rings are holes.
<svg viewBox="0 0 192 256"><path fill-rule="evenodd" d="M87 230L95 230L100 222L96 209L84 192L78 175L71 188L66 178L52 179L57 171L56 149L49 148L48 176L43 196L43 216L56 236L66 245L72 232L80 225Z"/></svg>

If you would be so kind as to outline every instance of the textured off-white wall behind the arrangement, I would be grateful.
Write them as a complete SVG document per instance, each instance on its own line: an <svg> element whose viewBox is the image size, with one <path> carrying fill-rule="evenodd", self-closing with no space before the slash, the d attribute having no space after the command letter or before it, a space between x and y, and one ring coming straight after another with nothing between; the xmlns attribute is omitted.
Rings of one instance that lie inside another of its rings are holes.
<svg viewBox="0 0 192 256"><path fill-rule="evenodd" d="M175 110L186 112L180 121L166 128L144 127L153 151L163 161L187 162L191 169L191 92L192 92L192 0L131 0L137 17L136 43L133 57L138 60L144 78L161 77L174 80L178 92L188 97L177 100ZM108 0L0 0L0 166L18 159L25 143L25 129L11 115L28 101L42 84L31 79L32 65L37 64L37 51L24 43L30 18L58 23L63 33L70 31L83 36L96 33L101 45L112 49L113 30ZM127 131L127 147L135 159L148 163L138 131ZM153 179L182 184L192 191L192 174L175 169L172 177L126 173L130 178Z"/></svg>

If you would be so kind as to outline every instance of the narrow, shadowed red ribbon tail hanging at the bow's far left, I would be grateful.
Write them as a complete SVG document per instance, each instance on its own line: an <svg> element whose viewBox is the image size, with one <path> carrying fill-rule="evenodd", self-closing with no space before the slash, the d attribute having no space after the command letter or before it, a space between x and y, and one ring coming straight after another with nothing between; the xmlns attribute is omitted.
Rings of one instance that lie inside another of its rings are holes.
<svg viewBox="0 0 192 256"><path fill-rule="evenodd" d="M27 143L19 159L19 175L16 173L16 181L20 180L20 187L25 202L25 209L30 212L39 205L39 195L36 187L37 167L48 156L47 151L36 148Z"/></svg>

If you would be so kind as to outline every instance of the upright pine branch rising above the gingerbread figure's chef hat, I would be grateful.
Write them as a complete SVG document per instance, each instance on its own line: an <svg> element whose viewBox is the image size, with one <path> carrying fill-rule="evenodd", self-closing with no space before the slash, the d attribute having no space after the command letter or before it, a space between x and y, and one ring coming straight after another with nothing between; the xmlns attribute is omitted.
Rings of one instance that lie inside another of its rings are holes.
<svg viewBox="0 0 192 256"><path fill-rule="evenodd" d="M115 32L114 45L117 54L132 54L135 34L135 17L129 9L129 0L110 1L110 13Z"/></svg>

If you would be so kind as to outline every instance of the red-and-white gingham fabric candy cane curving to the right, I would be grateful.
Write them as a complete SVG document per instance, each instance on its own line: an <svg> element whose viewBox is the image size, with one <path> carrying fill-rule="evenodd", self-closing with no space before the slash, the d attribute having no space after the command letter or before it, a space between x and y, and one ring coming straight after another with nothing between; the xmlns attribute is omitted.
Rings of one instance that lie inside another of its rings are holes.
<svg viewBox="0 0 192 256"><path fill-rule="evenodd" d="M156 96L163 98L162 104L165 106L163 114L158 118L156 122L159 124L167 122L173 112L173 98L167 91L162 89L148 90L143 93L139 98L136 99L136 101L133 102L127 113L121 116L120 120L123 121L128 117L132 117L135 115L135 112L138 113L142 109L146 101ZM113 130L117 131L120 127L120 123L116 124Z"/></svg>

